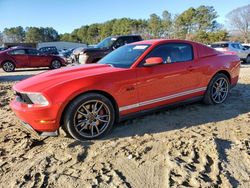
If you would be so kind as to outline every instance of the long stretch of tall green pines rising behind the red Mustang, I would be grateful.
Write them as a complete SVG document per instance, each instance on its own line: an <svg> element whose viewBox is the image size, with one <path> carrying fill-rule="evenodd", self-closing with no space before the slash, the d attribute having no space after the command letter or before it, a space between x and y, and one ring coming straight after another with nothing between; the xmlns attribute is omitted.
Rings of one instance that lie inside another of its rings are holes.
<svg viewBox="0 0 250 188"><path fill-rule="evenodd" d="M84 25L72 33L60 35L61 40L94 44L110 35L140 34L144 39L188 39L211 43L228 38L228 32L216 21L212 6L189 8L179 15L167 10L148 19L113 19L100 24Z"/></svg>

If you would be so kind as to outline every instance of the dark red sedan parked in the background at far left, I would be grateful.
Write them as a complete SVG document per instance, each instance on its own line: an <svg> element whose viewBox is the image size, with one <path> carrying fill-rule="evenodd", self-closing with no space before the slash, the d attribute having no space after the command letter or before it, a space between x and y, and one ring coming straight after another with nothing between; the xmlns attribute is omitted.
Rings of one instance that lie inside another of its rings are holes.
<svg viewBox="0 0 250 188"><path fill-rule="evenodd" d="M13 47L0 52L0 67L5 72L15 68L50 67L57 69L66 65L64 59L55 55L46 55L35 48Z"/></svg>

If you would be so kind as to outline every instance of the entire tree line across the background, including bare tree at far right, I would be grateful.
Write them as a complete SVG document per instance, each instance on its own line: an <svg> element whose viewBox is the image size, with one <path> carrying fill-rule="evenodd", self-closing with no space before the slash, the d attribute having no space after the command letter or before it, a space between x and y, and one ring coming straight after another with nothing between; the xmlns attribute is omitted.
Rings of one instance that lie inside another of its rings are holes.
<svg viewBox="0 0 250 188"><path fill-rule="evenodd" d="M240 7L228 14L229 21L237 29L239 21L248 20L241 24L239 31L244 34L245 41L249 39L250 18L249 6ZM247 12L248 11L248 12ZM238 12L248 14L239 15ZM238 16L238 17L237 17ZM242 19L241 17L244 17ZM216 21L217 12L213 6L189 8L178 15L167 10L162 15L151 14L148 19L112 19L104 23L84 25L71 33L58 34L52 27L12 27L0 32L0 42L50 42L70 41L95 44L111 35L140 34L144 39L167 38L188 39L210 44L216 41L228 40L229 33ZM235 18L238 19L235 19ZM244 25L245 24L245 25ZM249 25L247 25L249 24Z"/></svg>

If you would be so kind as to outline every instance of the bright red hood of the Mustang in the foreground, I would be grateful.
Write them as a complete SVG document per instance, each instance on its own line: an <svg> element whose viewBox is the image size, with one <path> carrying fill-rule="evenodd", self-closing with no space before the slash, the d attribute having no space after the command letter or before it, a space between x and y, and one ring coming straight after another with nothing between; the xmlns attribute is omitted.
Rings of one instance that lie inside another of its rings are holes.
<svg viewBox="0 0 250 188"><path fill-rule="evenodd" d="M87 64L74 67L66 67L38 74L13 86L18 92L43 92L50 87L63 84L72 80L87 78L120 70L106 64Z"/></svg>

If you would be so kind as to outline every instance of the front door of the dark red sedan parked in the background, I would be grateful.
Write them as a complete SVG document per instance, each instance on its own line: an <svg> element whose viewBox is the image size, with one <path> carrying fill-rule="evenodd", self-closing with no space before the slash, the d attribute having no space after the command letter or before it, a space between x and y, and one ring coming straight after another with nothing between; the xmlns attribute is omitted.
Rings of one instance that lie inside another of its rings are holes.
<svg viewBox="0 0 250 188"><path fill-rule="evenodd" d="M49 66L48 56L41 54L40 51L36 49L26 49L30 67L46 67Z"/></svg>

